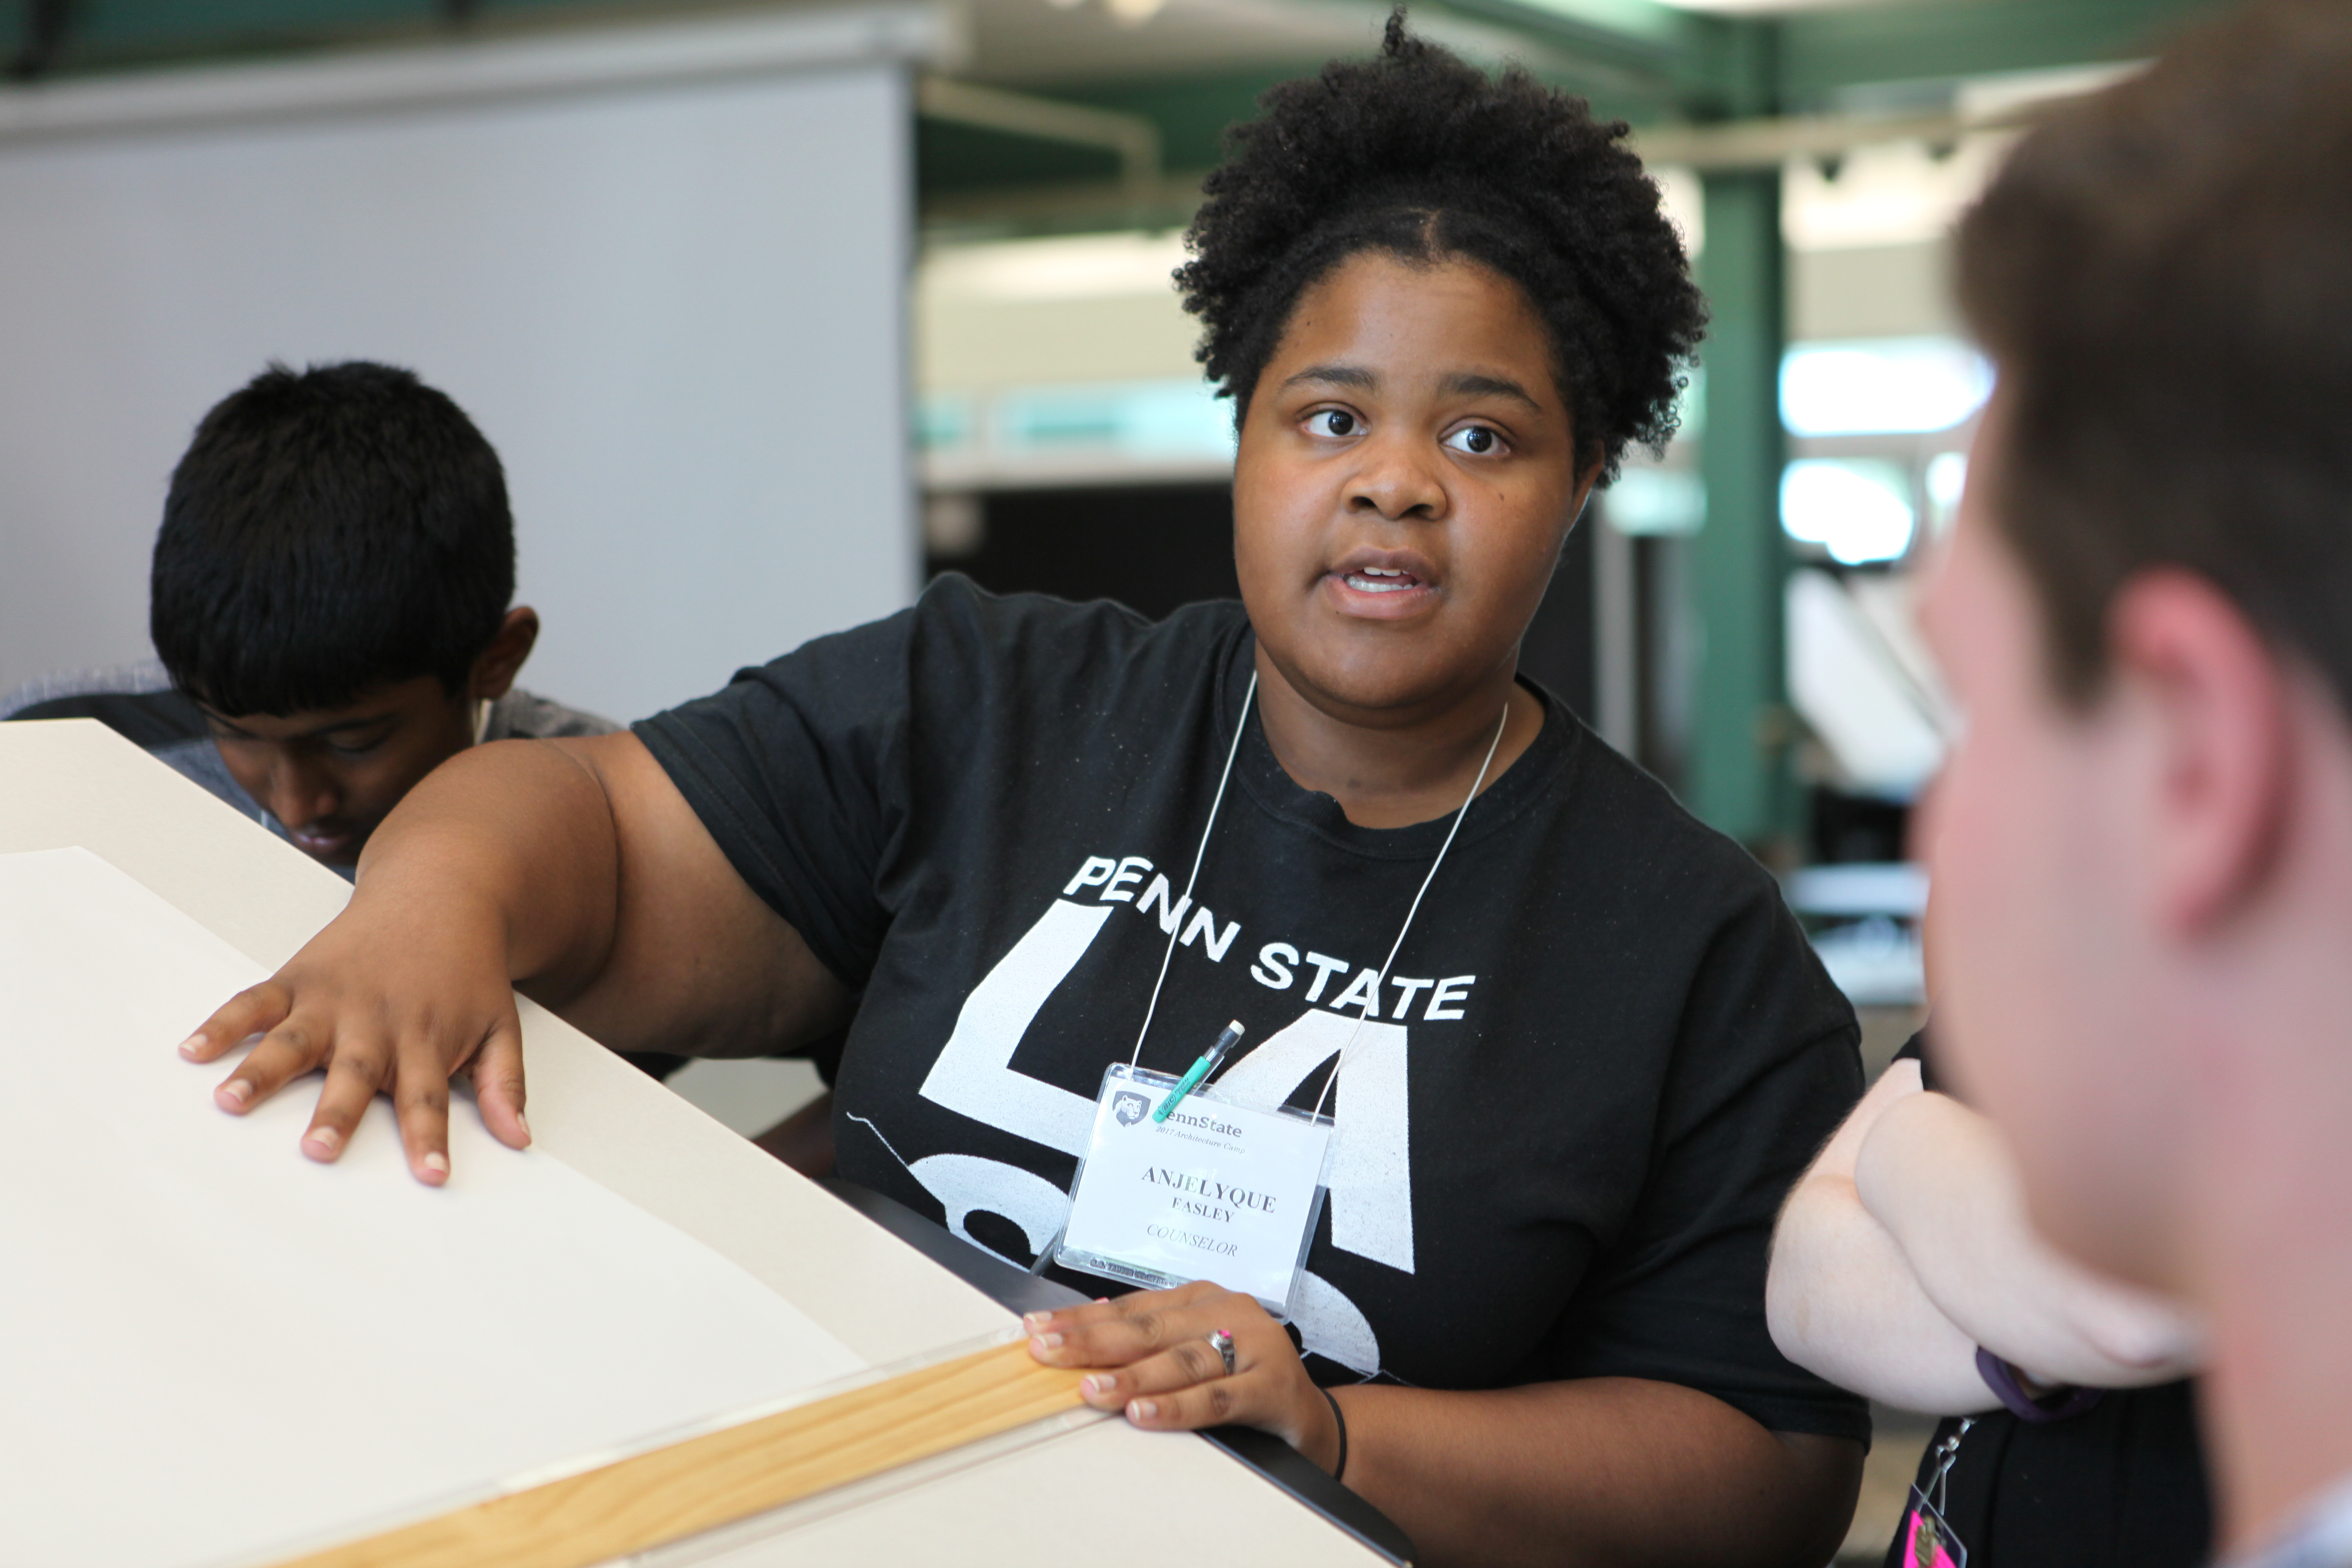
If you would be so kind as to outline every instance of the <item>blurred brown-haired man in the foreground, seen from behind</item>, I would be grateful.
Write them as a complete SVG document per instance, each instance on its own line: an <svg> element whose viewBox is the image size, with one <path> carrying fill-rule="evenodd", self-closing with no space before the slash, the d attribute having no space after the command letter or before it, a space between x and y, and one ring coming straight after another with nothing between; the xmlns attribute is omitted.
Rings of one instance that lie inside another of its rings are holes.
<svg viewBox="0 0 2352 1568"><path fill-rule="evenodd" d="M2204 1319L2225 1559L2352 1563L2352 7L2056 115L1959 294L1938 1063L2051 1241Z"/></svg>

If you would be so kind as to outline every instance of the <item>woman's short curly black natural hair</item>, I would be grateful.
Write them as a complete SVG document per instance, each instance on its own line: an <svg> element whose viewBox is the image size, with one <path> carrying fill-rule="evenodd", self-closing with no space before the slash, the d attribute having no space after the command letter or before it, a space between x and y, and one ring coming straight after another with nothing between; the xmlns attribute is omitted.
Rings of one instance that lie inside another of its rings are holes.
<svg viewBox="0 0 2352 1568"><path fill-rule="evenodd" d="M1628 442L1675 435L1675 395L1705 331L1658 186L1583 99L1501 78L1404 33L1369 63L1284 82L1230 132L1176 273L1207 324L1200 362L1249 414L1298 296L1362 252L1465 259L1519 284L1550 327L1578 465L1616 477Z"/></svg>

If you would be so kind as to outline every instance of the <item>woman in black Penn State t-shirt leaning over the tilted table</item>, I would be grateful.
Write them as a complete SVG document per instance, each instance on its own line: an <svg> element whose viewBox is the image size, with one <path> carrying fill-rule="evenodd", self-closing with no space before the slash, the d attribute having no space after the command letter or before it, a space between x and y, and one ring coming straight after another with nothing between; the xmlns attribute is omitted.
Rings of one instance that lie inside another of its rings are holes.
<svg viewBox="0 0 2352 1568"><path fill-rule="evenodd" d="M1773 1349L1764 1246L1853 1018L1771 879L1515 677L1703 322L1621 136L1402 24L1275 89L1181 273L1242 604L943 578L630 736L473 752L188 1053L268 1030L230 1110L325 1065L318 1159L390 1091L433 1182L461 1067L529 1135L510 980L713 1056L854 1006L840 1171L1028 1262L1105 1067L1240 1020L1221 1084L1338 1121L1289 1326L1192 1284L1035 1354L1289 1439L1430 1561L1823 1561L1867 1425Z"/></svg>

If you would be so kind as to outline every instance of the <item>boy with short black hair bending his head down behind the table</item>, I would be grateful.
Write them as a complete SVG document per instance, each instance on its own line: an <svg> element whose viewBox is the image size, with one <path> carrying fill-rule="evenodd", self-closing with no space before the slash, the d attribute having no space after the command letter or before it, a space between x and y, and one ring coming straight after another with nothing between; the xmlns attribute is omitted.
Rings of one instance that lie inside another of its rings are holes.
<svg viewBox="0 0 2352 1568"><path fill-rule="evenodd" d="M348 877L468 745L612 731L515 689L539 611L513 595L506 475L463 409L388 364L270 364L172 470L148 609L169 693L134 670L14 717L139 719L155 757Z"/></svg>

